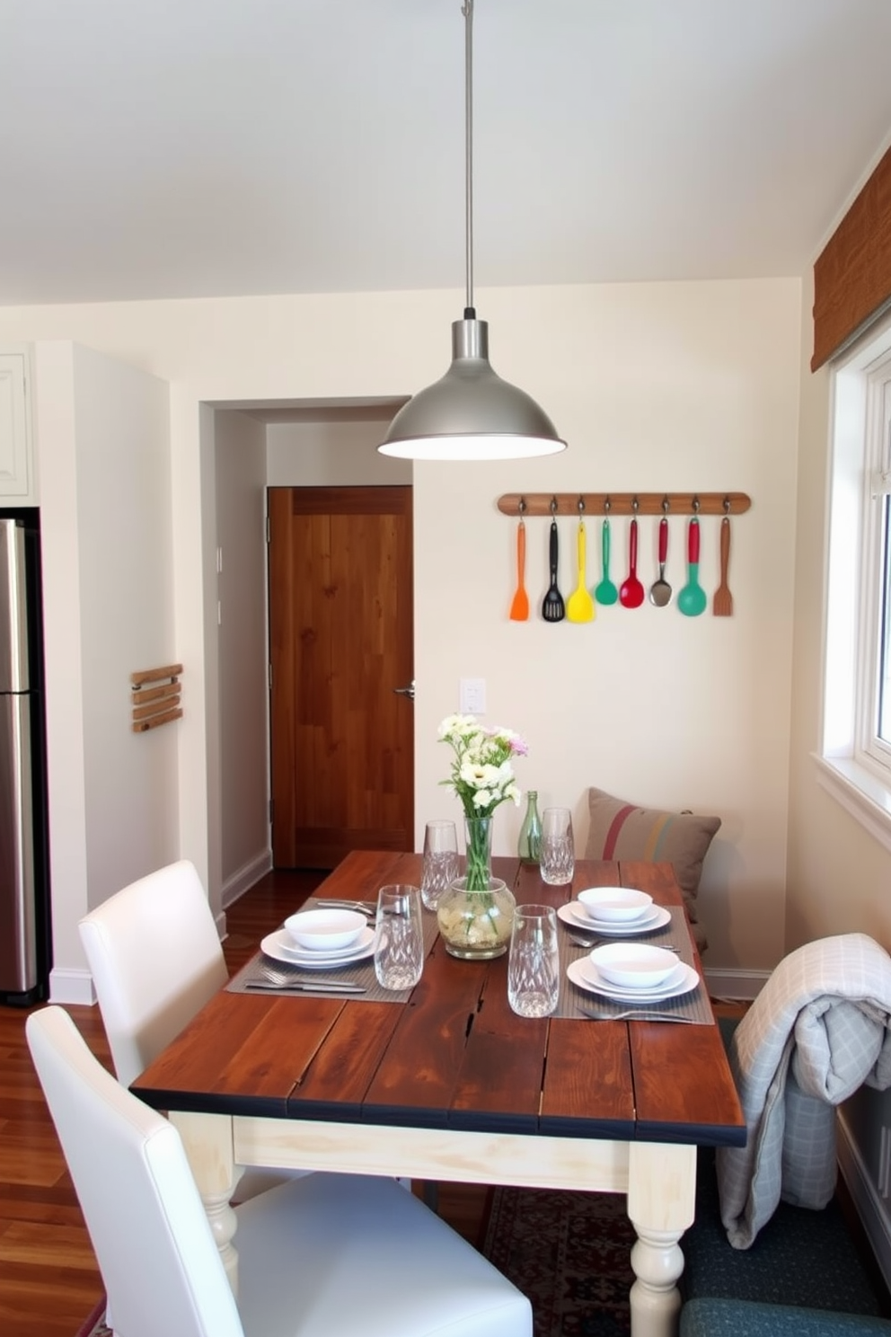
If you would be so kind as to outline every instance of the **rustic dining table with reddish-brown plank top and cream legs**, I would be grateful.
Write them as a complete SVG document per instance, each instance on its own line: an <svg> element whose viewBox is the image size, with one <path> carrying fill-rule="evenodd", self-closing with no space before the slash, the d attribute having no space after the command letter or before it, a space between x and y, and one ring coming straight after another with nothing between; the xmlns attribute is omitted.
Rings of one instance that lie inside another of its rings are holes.
<svg viewBox="0 0 891 1337"><path fill-rule="evenodd" d="M631 885L683 904L668 864L577 862L574 890L494 870L525 902ZM419 854L355 852L318 894L419 876ZM176 1123L235 1288L242 1166L622 1193L633 1337L676 1328L696 1147L745 1139L716 1024L520 1017L506 957L458 961L438 937L407 1003L222 991L132 1090Z"/></svg>

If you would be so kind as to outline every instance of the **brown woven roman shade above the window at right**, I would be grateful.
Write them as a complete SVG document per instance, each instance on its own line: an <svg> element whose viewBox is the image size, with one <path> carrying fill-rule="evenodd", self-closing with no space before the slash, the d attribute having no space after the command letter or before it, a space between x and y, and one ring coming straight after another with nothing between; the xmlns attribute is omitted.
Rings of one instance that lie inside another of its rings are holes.
<svg viewBox="0 0 891 1337"><path fill-rule="evenodd" d="M814 266L816 372L891 301L891 148Z"/></svg>

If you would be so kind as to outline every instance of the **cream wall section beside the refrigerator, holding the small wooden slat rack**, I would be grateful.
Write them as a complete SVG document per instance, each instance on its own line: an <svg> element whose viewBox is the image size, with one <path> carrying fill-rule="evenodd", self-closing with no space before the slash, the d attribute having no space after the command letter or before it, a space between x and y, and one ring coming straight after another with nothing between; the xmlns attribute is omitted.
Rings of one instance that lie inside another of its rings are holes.
<svg viewBox="0 0 891 1337"><path fill-rule="evenodd" d="M163 381L69 344L37 345L35 384L61 996L83 963L80 915L179 853L178 725L135 734L130 685L175 659L170 400Z"/></svg>

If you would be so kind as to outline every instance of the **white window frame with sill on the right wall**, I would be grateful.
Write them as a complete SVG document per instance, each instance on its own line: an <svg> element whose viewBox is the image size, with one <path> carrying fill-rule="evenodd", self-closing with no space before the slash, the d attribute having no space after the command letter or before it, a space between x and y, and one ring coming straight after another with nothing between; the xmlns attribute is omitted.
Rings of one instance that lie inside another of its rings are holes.
<svg viewBox="0 0 891 1337"><path fill-rule="evenodd" d="M875 729L884 532L883 499L875 492L891 488L883 432L891 405L891 320L839 361L831 385L818 778L891 850L891 747Z"/></svg>

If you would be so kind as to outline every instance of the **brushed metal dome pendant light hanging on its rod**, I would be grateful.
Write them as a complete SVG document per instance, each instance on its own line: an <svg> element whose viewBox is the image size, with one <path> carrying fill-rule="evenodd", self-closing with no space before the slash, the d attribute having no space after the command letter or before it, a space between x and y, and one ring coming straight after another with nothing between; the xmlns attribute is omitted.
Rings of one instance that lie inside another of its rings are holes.
<svg viewBox="0 0 891 1337"><path fill-rule="evenodd" d="M452 326L452 365L390 424L382 455L405 460L517 460L566 449L532 396L489 365L489 325L473 306L473 0L465 19L466 305Z"/></svg>

